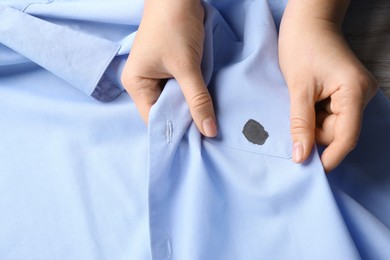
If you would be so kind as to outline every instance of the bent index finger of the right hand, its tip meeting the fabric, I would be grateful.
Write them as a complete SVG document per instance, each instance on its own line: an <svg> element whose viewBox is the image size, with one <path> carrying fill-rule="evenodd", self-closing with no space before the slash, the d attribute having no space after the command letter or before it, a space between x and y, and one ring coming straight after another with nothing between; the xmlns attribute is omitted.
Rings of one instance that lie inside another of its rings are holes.
<svg viewBox="0 0 390 260"><path fill-rule="evenodd" d="M334 122L334 138L321 156L326 172L337 167L345 156L352 151L360 134L362 109L347 106L348 110L337 114Z"/></svg>

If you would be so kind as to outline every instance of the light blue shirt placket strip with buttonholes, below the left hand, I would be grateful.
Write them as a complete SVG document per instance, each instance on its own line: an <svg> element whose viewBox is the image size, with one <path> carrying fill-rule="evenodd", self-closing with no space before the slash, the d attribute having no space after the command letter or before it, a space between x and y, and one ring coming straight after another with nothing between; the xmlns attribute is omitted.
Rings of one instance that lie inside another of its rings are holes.
<svg viewBox="0 0 390 260"><path fill-rule="evenodd" d="M170 168L191 116L175 80L168 81L149 114L149 231L152 259L174 258Z"/></svg>

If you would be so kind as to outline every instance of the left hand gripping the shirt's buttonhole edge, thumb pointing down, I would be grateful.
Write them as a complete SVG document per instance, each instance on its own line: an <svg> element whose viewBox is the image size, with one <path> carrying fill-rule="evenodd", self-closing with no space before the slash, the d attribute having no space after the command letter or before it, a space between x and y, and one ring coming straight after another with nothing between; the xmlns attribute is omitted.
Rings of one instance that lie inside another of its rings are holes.
<svg viewBox="0 0 390 260"><path fill-rule="evenodd" d="M175 78L198 129L217 134L211 97L200 64L204 42L200 0L146 0L144 14L122 74L122 83L147 123L168 78Z"/></svg>

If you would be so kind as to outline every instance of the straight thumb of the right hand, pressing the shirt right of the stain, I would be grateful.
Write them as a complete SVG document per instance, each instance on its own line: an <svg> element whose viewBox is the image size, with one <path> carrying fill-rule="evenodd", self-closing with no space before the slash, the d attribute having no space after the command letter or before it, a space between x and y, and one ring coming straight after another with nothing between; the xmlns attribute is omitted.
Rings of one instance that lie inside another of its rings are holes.
<svg viewBox="0 0 390 260"><path fill-rule="evenodd" d="M315 135L314 98L307 89L295 88L290 91L291 121L290 131L293 140L293 161L305 161L313 148Z"/></svg>

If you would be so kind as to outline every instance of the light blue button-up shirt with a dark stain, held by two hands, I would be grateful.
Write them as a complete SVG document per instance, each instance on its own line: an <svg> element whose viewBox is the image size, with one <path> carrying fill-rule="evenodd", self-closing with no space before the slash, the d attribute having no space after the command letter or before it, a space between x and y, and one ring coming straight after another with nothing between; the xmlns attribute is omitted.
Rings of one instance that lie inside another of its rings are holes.
<svg viewBox="0 0 390 260"><path fill-rule="evenodd" d="M0 259L390 257L388 99L328 178L293 163L283 5L204 6L214 139L175 80L148 127L123 92L143 1L2 1Z"/></svg>

